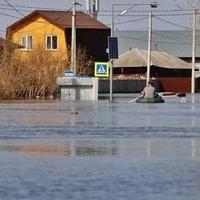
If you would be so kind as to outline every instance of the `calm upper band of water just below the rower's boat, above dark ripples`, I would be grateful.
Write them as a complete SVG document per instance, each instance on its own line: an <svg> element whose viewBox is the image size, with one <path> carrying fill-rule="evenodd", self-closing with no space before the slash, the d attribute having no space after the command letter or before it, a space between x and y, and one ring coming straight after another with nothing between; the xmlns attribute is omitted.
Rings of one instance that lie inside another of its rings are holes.
<svg viewBox="0 0 200 200"><path fill-rule="evenodd" d="M98 102L1 103L0 125L74 127L194 127L200 121L199 96L166 98L162 105L129 104L127 100ZM98 128L97 128L98 129ZM98 130L97 130L98 131ZM109 131L109 130L108 130ZM112 131L112 130L111 130ZM0 132L1 136L1 132Z"/></svg>

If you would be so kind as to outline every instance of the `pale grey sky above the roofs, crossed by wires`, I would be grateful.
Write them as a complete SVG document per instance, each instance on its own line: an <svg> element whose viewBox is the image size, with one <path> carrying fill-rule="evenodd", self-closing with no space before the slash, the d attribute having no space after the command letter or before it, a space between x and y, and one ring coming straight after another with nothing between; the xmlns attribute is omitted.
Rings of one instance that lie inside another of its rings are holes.
<svg viewBox="0 0 200 200"><path fill-rule="evenodd" d="M78 0L77 0L78 1ZM151 0L99 0L100 12L98 19L110 25L111 5L119 3L150 4ZM85 10L85 0L79 0ZM153 12L153 28L155 30L188 30L192 24L192 7L199 8L200 0L158 0L158 8L151 9L148 5L137 5L124 16L115 17L115 29L147 30L148 13ZM10 5L12 6L10 6ZM5 36L6 27L16 22L23 15L35 9L68 10L72 0L0 0L0 36ZM116 15L129 6L115 6ZM119 11L117 13L117 11Z"/></svg>

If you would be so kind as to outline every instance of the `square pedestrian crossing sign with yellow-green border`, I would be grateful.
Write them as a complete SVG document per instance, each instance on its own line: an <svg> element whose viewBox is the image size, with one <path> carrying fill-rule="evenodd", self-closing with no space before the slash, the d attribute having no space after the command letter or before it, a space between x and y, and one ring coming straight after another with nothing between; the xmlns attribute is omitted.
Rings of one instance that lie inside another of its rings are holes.
<svg viewBox="0 0 200 200"><path fill-rule="evenodd" d="M108 77L109 76L109 63L108 62L96 62L94 71L95 71L96 77Z"/></svg>

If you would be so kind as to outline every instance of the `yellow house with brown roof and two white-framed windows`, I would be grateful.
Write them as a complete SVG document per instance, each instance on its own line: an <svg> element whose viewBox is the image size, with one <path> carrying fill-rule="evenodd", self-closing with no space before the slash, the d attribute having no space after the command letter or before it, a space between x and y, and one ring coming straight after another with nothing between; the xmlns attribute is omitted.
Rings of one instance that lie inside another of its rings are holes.
<svg viewBox="0 0 200 200"><path fill-rule="evenodd" d="M35 10L7 28L7 39L23 46L24 55L38 45L52 55L69 57L72 12ZM77 47L86 48L96 61L107 61L107 37L110 28L84 12L76 12ZM69 58L68 58L69 59Z"/></svg>

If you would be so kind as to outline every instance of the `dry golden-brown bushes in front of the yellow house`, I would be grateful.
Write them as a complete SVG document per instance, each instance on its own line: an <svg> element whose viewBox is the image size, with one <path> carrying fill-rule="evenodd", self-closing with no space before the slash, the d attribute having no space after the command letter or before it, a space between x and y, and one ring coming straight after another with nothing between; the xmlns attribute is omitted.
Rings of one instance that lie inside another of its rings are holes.
<svg viewBox="0 0 200 200"><path fill-rule="evenodd" d="M70 57L70 56L69 56ZM53 96L58 91L56 79L64 74L69 62L38 45L30 54L13 53L6 46L0 57L0 99L34 99ZM92 75L93 59L86 49L77 50L77 74Z"/></svg>

